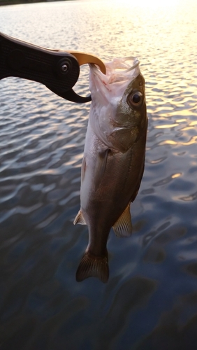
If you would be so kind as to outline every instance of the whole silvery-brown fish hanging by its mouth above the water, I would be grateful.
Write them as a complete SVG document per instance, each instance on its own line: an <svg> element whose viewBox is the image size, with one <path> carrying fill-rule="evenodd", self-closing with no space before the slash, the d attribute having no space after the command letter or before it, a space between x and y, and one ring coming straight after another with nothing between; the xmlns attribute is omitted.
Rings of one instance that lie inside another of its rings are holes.
<svg viewBox="0 0 197 350"><path fill-rule="evenodd" d="M145 167L147 109L145 79L135 57L105 63L106 74L90 64L92 94L82 159L80 211L75 224L87 225L89 242L76 281L109 278L107 242L132 233L130 204Z"/></svg>

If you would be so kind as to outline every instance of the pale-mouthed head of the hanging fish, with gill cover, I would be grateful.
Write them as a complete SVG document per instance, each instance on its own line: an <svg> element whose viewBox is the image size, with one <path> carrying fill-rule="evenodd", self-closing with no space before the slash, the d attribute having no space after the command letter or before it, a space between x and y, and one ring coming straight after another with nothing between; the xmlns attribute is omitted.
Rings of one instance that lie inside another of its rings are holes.
<svg viewBox="0 0 197 350"><path fill-rule="evenodd" d="M133 57L132 57L133 58ZM147 127L145 79L139 62L124 59L106 64L106 76L92 70L89 120L96 136L115 152L126 152Z"/></svg>

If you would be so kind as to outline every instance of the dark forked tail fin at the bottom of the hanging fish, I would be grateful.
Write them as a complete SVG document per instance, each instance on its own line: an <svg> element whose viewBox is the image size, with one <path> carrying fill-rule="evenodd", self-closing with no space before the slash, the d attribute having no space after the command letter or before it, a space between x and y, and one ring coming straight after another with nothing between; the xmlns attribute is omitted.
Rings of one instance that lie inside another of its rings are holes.
<svg viewBox="0 0 197 350"><path fill-rule="evenodd" d="M88 251L83 255L76 272L76 281L81 282L88 277L97 277L103 283L109 278L108 252L105 256L95 256Z"/></svg>

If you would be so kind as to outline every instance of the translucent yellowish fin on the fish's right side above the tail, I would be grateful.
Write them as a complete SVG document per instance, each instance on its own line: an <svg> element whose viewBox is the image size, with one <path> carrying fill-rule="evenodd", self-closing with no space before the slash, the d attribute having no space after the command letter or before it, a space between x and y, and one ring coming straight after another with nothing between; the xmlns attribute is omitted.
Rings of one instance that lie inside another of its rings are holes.
<svg viewBox="0 0 197 350"><path fill-rule="evenodd" d="M123 211L122 215L119 217L115 225L113 225L113 230L117 237L129 237L132 233L132 223L131 223L131 213L130 213L130 203Z"/></svg>

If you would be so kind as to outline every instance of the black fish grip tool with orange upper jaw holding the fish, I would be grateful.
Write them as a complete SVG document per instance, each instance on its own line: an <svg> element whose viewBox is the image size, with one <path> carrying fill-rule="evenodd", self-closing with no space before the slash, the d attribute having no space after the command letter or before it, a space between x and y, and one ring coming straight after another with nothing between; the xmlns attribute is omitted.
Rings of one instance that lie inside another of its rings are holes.
<svg viewBox="0 0 197 350"><path fill-rule="evenodd" d="M99 65L105 73L105 65L94 55L42 48L0 33L0 79L16 76L34 80L68 101L84 103L91 101L91 96L80 96L73 86L80 65L86 63Z"/></svg>

